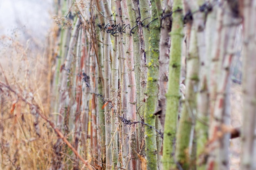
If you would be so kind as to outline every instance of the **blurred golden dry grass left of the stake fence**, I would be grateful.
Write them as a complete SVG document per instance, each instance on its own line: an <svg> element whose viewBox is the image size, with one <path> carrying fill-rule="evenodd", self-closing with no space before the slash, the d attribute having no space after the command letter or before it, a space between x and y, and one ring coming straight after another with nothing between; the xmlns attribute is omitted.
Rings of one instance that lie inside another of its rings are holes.
<svg viewBox="0 0 256 170"><path fill-rule="evenodd" d="M2 36L1 42L0 80L26 98L33 96L49 115L49 49L31 49L29 40L22 43L18 37ZM57 140L54 131L43 119L31 115L28 104L17 95L3 88L0 93L0 169L49 169Z"/></svg>

